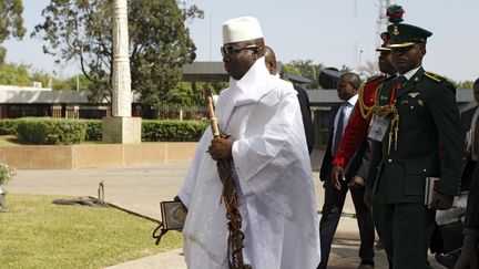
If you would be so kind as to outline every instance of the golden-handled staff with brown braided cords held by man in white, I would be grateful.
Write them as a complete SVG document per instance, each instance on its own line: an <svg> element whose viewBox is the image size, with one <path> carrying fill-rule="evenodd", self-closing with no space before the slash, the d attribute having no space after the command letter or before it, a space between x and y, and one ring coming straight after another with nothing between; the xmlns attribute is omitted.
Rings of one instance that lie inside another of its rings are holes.
<svg viewBox="0 0 479 269"><path fill-rule="evenodd" d="M207 97L207 107L210 112L210 121L214 137L226 137L220 132L217 120L214 115L213 100L211 96ZM242 228L242 216L240 213L240 200L236 193L236 186L232 176L232 159L221 159L216 162L216 168L220 179L223 184L222 199L226 207L226 218L228 220L228 267L230 269L252 269L249 265L244 263L243 258L243 240L244 234ZM221 201L220 201L221 203ZM218 246L221 247L221 246Z"/></svg>

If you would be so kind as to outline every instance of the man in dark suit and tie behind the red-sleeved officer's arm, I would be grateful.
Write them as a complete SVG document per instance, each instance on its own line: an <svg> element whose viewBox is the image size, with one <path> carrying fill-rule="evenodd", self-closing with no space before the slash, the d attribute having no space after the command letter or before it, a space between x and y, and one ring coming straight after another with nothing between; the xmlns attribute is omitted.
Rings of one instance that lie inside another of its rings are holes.
<svg viewBox="0 0 479 269"><path fill-rule="evenodd" d="M357 93L359 86L360 79L357 74L345 73L340 75L337 91L338 96L343 102L334 105L330 110L329 139L319 174L319 178L324 180L325 188L325 200L319 223L319 237L322 245L322 261L318 267L319 269L327 267L333 237L339 223L348 189L350 190L353 203L355 205L359 236L361 239L359 248L361 262L358 268L375 267L373 246L375 231L373 217L371 211L363 199L366 189L364 182L368 170L368 166L366 166L366 169L365 167L361 167L363 155L366 147L365 143L356 152L356 155L353 157L348 167L346 167L346 180L342 183L340 188L337 189L332 183L332 161L339 146L349 115L353 110L357 108L357 106L355 107L355 104L358 100Z"/></svg>

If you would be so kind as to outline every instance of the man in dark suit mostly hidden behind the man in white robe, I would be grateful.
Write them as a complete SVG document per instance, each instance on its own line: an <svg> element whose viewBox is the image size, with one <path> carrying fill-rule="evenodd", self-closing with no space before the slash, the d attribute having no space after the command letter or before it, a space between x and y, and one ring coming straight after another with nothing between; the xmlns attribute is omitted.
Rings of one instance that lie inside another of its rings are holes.
<svg viewBox="0 0 479 269"><path fill-rule="evenodd" d="M272 75L277 75L279 77L276 69L276 55L273 49L267 45L265 45L265 62L269 73ZM312 114L309 108L309 99L307 96L307 92L304 89L296 85L294 85L294 89L297 92L299 108L302 111L302 116L303 116L303 125L305 128L306 144L308 146L308 152L310 154L313 152L315 138L314 138L314 126L310 116Z"/></svg>

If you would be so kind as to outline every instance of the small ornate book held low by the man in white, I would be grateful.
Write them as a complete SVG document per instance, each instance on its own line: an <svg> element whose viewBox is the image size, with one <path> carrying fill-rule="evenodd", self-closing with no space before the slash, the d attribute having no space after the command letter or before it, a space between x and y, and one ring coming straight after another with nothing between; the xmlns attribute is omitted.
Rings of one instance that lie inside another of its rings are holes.
<svg viewBox="0 0 479 269"><path fill-rule="evenodd" d="M160 203L163 227L166 230L182 230L186 219L186 208L180 200Z"/></svg>

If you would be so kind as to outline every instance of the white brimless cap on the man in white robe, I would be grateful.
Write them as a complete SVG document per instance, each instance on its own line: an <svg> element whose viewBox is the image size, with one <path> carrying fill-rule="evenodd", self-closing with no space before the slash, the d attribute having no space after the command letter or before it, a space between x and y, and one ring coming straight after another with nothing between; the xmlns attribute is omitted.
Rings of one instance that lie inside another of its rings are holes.
<svg viewBox="0 0 479 269"><path fill-rule="evenodd" d="M223 44L261 38L263 31L256 18L240 17L223 23Z"/></svg>

